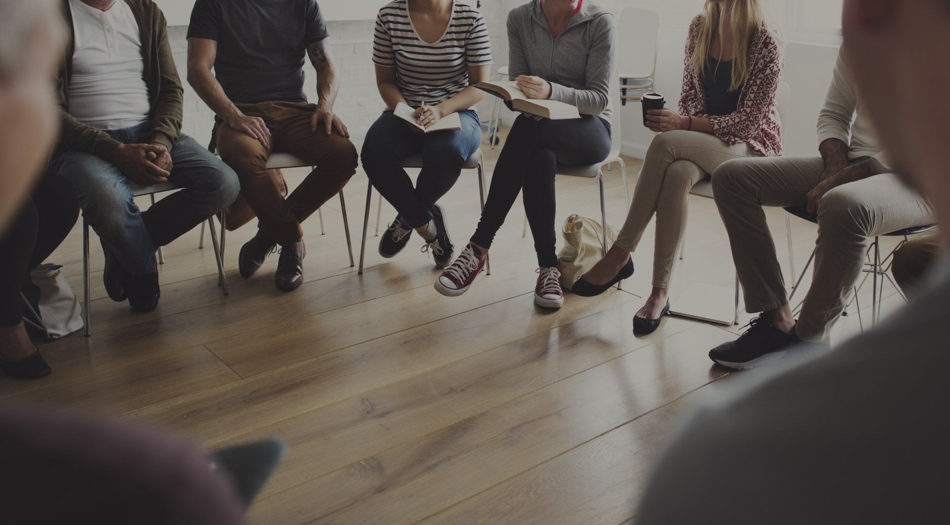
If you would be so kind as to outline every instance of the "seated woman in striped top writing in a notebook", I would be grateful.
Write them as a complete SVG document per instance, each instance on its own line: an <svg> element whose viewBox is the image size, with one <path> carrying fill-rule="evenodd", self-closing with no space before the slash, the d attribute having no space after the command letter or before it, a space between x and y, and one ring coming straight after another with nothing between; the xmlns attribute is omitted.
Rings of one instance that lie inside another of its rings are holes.
<svg viewBox="0 0 950 525"><path fill-rule="evenodd" d="M398 212L380 238L379 254L399 253L415 230L426 241L423 250L430 250L435 264L445 268L455 247L446 209L437 201L482 142L473 106L485 92L472 84L488 79L491 49L485 20L452 0L390 2L376 18L372 61L379 94L389 109L367 132L361 157L372 185ZM426 127L458 113L462 129L421 133L393 116L397 103L416 108L414 115ZM422 153L423 168L413 188L402 161L415 153Z"/></svg>

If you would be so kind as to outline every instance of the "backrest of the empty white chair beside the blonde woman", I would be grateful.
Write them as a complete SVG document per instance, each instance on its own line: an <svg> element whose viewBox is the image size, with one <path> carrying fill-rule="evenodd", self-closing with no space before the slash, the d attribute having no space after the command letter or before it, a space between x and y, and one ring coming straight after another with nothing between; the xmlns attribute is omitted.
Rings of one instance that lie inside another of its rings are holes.
<svg viewBox="0 0 950 525"><path fill-rule="evenodd" d="M624 77L647 78L656 73L659 13L650 9L624 8L617 32L618 71Z"/></svg>

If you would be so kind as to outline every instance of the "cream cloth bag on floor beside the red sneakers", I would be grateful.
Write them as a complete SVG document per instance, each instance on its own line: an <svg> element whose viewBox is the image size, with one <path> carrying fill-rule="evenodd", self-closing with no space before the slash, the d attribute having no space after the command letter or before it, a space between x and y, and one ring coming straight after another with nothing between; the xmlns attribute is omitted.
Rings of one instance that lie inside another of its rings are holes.
<svg viewBox="0 0 950 525"><path fill-rule="evenodd" d="M594 267L603 257L600 239L600 223L583 216L569 216L564 221L561 234L564 247L558 253L558 270L561 271L561 288L571 290L580 276ZM607 225L607 246L617 240L617 230Z"/></svg>

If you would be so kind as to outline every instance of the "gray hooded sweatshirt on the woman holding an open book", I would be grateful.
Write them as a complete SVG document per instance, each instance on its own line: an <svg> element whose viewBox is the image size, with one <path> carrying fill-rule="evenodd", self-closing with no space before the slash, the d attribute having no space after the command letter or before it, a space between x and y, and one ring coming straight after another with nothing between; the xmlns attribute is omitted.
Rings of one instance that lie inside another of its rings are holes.
<svg viewBox="0 0 950 525"><path fill-rule="evenodd" d="M551 84L551 100L578 106L581 115L610 122L614 71L614 15L583 0L558 38L540 0L508 13L508 76L534 75Z"/></svg>

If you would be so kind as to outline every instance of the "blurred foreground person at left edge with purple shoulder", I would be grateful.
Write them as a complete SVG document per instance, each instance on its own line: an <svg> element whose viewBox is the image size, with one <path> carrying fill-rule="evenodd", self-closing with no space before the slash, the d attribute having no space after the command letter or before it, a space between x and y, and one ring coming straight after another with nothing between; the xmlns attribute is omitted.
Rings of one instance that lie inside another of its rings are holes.
<svg viewBox="0 0 950 525"><path fill-rule="evenodd" d="M0 0L0 237L55 139L58 21L47 0ZM4 402L0 523L241 523L282 454L261 441L209 459L136 425Z"/></svg>

